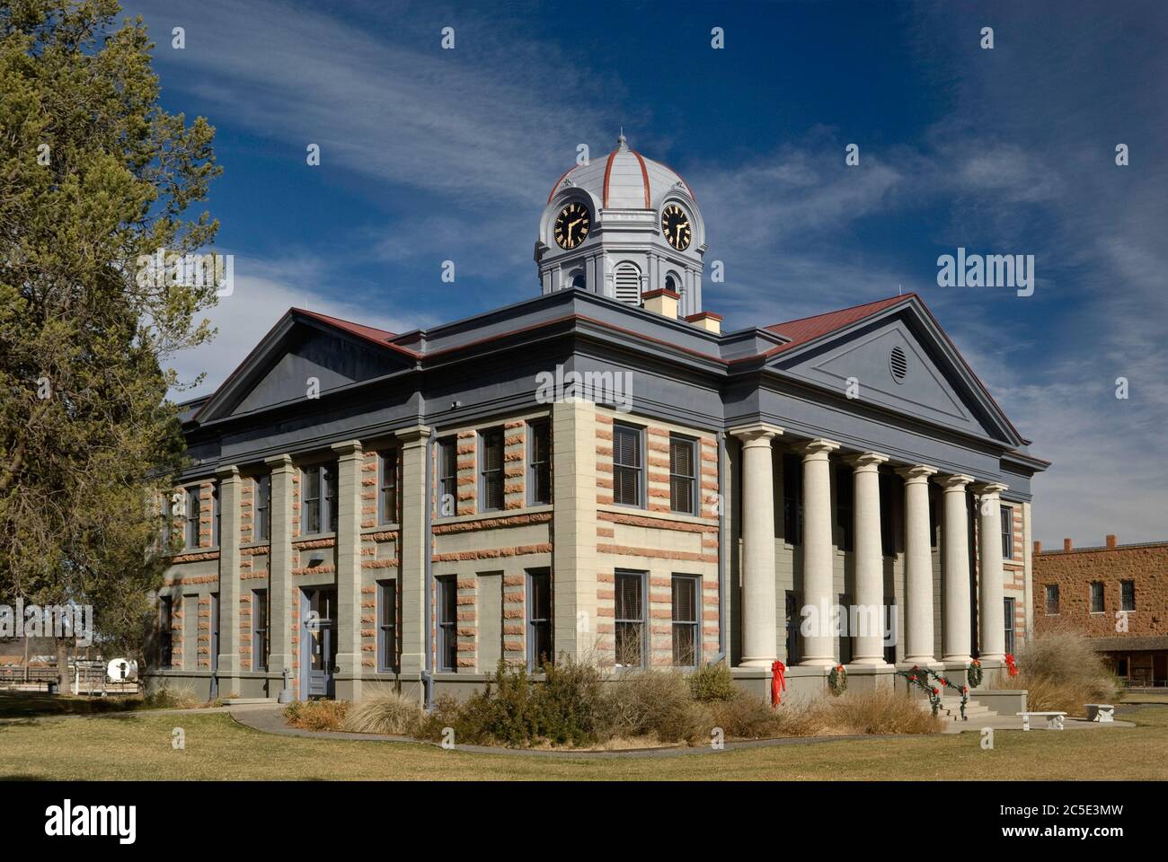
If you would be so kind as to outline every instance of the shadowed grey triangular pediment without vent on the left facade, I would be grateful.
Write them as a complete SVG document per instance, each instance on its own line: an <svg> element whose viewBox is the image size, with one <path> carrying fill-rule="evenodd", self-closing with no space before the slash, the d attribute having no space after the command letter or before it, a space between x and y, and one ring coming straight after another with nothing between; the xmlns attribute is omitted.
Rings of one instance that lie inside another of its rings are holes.
<svg viewBox="0 0 1168 862"><path fill-rule="evenodd" d="M304 401L408 366L401 352L290 312L203 405L197 420Z"/></svg>

